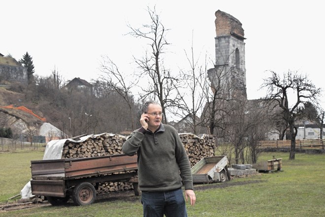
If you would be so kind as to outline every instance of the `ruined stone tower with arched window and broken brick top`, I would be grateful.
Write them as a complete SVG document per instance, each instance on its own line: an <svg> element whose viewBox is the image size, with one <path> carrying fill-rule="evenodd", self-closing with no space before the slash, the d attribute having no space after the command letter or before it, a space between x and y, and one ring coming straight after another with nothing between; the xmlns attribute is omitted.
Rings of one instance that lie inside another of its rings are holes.
<svg viewBox="0 0 325 217"><path fill-rule="evenodd" d="M221 10L216 11L216 62L208 76L213 88L226 88L231 96L246 94L245 42L242 24ZM222 87L221 87L222 86Z"/></svg>

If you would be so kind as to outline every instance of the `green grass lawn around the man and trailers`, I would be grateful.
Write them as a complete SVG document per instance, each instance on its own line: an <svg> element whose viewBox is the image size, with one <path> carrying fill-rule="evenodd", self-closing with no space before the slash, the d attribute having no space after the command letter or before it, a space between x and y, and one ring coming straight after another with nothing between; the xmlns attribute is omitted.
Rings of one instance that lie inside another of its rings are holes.
<svg viewBox="0 0 325 217"><path fill-rule="evenodd" d="M4 171L16 170L23 173L25 179L30 178L30 169L27 159L40 159L41 154L35 153L1 154L0 163L3 165L3 156L13 162L14 167L4 165ZM24 155L28 155L24 156ZM37 156L36 156L37 155ZM225 183L199 185L195 190L196 204L188 205L189 217L323 217L325 216L325 155L296 153L295 160L289 160L289 153L262 153L259 162L263 160L282 158L282 172L265 173L258 176L235 178ZM25 166L24 162L28 164ZM18 166L19 165L19 166ZM27 167L28 169L26 169ZM1 171L2 175L3 171ZM8 171L6 172L8 173ZM1 176L1 183L3 178ZM15 185L22 188L25 181L15 179L4 186L0 186L2 201L17 193L9 188ZM208 189L198 190L201 186ZM225 187L226 186L226 187ZM9 189L6 189L9 188ZM2 192L6 192L3 194ZM6 195L6 196L3 196ZM32 216L32 217L141 217L142 206L140 197L128 194L123 199L97 200L94 204L85 207L46 206L28 210L0 213L0 217Z"/></svg>

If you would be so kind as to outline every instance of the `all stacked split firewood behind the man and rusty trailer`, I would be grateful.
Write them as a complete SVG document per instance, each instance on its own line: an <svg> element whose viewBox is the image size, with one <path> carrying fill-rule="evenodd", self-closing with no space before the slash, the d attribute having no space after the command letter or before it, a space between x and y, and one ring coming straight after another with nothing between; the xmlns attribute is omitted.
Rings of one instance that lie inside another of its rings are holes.
<svg viewBox="0 0 325 217"><path fill-rule="evenodd" d="M187 151L191 167L203 157L214 156L215 138L210 135L197 137L194 134L180 134L181 141ZM63 147L62 158L96 157L103 155L122 154L122 145L126 137L119 134L100 134L90 137L84 142L67 140ZM131 183L103 182L98 193L133 189Z"/></svg>

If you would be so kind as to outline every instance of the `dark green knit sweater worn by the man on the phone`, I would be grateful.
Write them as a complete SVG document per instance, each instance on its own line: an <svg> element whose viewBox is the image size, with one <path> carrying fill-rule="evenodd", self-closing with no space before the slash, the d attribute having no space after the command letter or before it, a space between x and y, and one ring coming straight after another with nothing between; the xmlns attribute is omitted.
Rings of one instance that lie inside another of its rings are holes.
<svg viewBox="0 0 325 217"><path fill-rule="evenodd" d="M177 131L161 124L152 133L144 128L133 131L123 144L127 155L137 154L138 181L141 191L168 191L182 187L193 189L191 166Z"/></svg>

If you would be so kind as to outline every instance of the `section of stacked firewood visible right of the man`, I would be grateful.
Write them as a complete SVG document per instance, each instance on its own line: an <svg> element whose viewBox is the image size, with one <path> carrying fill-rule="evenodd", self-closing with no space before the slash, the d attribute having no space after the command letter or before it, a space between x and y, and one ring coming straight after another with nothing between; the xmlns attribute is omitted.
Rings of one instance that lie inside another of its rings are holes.
<svg viewBox="0 0 325 217"><path fill-rule="evenodd" d="M189 157L191 167L204 157L212 157L215 154L215 137L204 134L198 137L194 134L179 134L184 148Z"/></svg>

